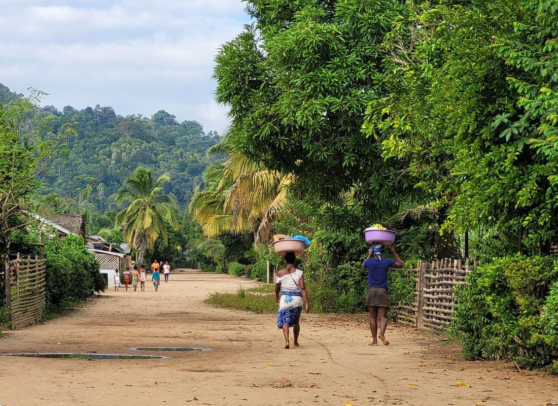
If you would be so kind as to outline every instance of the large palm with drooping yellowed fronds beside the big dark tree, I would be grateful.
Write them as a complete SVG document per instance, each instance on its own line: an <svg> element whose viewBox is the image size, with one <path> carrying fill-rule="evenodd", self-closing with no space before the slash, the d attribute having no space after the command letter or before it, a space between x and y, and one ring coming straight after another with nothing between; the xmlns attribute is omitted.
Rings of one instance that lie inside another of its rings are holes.
<svg viewBox="0 0 558 406"><path fill-rule="evenodd" d="M210 166L204 174L205 183L214 186L194 194L190 211L208 238L224 231L250 231L256 241L267 241L272 222L290 199L288 186L294 178L234 152L229 138L208 154L224 152L229 154L227 161Z"/></svg>

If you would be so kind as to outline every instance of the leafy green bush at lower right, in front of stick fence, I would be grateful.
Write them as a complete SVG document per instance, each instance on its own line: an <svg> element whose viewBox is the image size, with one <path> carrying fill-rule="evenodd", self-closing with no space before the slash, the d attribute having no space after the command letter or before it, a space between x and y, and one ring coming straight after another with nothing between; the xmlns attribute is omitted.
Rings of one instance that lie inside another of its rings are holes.
<svg viewBox="0 0 558 406"><path fill-rule="evenodd" d="M468 360L507 360L558 372L558 266L508 256L479 266L457 297L450 337Z"/></svg>

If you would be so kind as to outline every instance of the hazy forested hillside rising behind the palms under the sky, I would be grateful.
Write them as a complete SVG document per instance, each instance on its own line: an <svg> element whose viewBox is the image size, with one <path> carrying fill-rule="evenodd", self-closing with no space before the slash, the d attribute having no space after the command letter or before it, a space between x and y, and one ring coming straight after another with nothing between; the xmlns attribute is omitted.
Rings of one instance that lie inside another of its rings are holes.
<svg viewBox="0 0 558 406"><path fill-rule="evenodd" d="M0 103L18 97L21 95L0 84ZM168 173L171 181L165 192L185 207L209 162L205 151L219 141L217 132L205 133L199 122L179 123L162 110L151 118L141 114L123 117L112 107L99 105L80 111L66 106L61 112L46 106L34 114L47 118L54 132L74 123L78 136L69 140L68 155L57 158L41 180L61 196L93 184L92 193L79 202L80 208L93 212L116 208L116 192L138 164L156 174Z"/></svg>

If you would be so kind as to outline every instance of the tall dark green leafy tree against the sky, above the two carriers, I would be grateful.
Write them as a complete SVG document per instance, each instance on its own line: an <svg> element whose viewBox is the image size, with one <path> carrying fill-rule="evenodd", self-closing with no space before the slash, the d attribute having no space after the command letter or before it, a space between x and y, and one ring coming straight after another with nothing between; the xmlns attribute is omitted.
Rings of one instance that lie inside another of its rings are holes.
<svg viewBox="0 0 558 406"><path fill-rule="evenodd" d="M228 104L236 151L294 174L301 194L333 200L355 187L368 213L413 193L397 159L362 135L367 104L384 93L381 44L401 2L254 0L255 22L217 57L217 100Z"/></svg>

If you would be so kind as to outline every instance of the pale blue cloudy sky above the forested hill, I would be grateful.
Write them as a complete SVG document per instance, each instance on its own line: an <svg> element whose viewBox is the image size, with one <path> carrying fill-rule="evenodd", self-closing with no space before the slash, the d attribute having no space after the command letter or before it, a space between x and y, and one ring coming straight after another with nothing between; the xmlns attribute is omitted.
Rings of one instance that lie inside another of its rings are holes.
<svg viewBox="0 0 558 406"><path fill-rule="evenodd" d="M227 127L213 59L249 22L240 0L0 0L0 83L42 103L160 109L205 130Z"/></svg>

